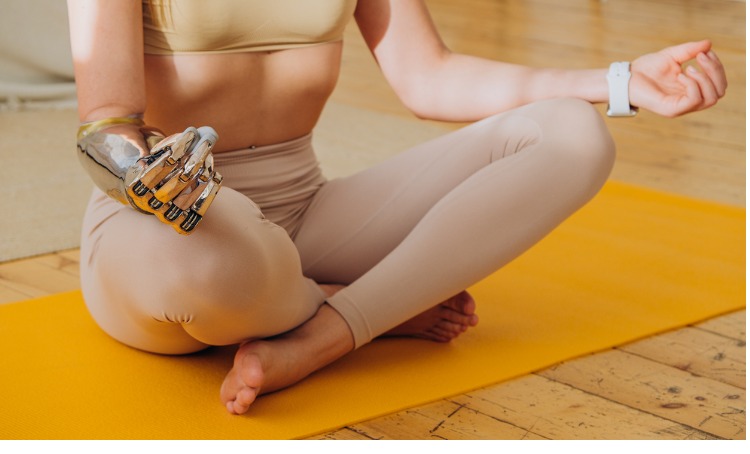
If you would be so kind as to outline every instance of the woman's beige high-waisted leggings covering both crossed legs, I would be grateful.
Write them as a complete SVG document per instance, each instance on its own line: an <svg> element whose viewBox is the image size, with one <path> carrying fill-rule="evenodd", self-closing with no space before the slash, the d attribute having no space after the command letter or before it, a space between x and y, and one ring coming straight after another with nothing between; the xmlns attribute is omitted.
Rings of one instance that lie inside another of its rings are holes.
<svg viewBox="0 0 750 454"><path fill-rule="evenodd" d="M216 157L225 186L188 237L94 193L82 287L121 342L187 353L278 334L324 303L321 282L348 285L327 303L359 347L538 242L601 188L614 145L590 104L561 99L332 181L309 136Z"/></svg>

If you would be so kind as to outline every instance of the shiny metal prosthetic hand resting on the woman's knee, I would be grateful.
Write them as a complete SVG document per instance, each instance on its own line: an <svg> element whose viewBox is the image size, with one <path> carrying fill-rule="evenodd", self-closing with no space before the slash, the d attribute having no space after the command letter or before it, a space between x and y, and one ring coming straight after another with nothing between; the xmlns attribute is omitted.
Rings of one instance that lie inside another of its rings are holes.
<svg viewBox="0 0 750 454"><path fill-rule="evenodd" d="M80 127L78 157L109 197L189 235L221 187L217 140L208 126L164 137L139 118L108 118Z"/></svg>

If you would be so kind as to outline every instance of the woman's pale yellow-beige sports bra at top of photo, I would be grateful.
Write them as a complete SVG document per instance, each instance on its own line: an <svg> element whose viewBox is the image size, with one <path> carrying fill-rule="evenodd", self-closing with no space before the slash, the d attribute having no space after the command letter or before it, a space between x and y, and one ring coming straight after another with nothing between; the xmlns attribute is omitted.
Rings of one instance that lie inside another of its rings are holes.
<svg viewBox="0 0 750 454"><path fill-rule="evenodd" d="M147 54L231 53L339 41L357 0L142 0Z"/></svg>

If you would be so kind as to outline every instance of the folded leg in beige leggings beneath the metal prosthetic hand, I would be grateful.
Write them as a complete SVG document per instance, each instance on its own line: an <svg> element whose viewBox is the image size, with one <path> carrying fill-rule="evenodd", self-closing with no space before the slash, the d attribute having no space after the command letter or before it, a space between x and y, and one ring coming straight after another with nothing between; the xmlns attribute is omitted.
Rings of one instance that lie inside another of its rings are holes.
<svg viewBox="0 0 750 454"><path fill-rule="evenodd" d="M229 188L189 236L97 192L81 254L94 319L148 351L185 353L278 334L312 316L323 300L302 276L286 231Z"/></svg>

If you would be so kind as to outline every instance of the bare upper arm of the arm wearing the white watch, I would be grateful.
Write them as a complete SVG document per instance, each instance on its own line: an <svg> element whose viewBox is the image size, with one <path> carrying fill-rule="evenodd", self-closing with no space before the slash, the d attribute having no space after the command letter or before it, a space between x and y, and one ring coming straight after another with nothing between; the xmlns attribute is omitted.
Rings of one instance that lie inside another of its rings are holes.
<svg viewBox="0 0 750 454"><path fill-rule="evenodd" d="M360 1L355 17L389 84L408 105L412 88L449 53L424 2Z"/></svg>

